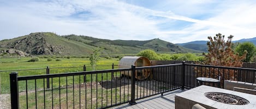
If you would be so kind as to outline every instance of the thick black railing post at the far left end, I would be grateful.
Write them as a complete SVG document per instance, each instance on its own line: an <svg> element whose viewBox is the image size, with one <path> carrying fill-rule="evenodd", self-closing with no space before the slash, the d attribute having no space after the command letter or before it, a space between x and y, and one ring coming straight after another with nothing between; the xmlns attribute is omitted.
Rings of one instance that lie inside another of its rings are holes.
<svg viewBox="0 0 256 109"><path fill-rule="evenodd" d="M19 108L19 86L17 72L10 73L11 109Z"/></svg>

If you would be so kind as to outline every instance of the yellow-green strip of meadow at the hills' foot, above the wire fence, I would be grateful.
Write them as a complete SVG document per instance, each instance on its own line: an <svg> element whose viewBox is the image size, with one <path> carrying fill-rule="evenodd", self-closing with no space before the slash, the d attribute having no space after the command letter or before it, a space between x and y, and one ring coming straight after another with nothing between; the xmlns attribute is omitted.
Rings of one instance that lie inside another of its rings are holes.
<svg viewBox="0 0 256 109"><path fill-rule="evenodd" d="M33 69L33 68L46 68L52 67L72 67L72 66L91 66L88 58L56 58L61 61L47 61L47 58L40 58L38 62L27 62L31 57L9 57L0 58L0 70L16 70L16 69ZM118 65L118 59L105 59L102 58L97 65ZM111 67L110 67L111 68Z"/></svg>

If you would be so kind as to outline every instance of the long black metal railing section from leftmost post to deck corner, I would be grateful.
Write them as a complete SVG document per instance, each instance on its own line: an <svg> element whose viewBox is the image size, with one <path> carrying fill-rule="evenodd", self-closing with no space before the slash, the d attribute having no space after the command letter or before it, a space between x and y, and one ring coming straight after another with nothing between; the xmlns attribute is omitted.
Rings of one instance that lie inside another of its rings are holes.
<svg viewBox="0 0 256 109"><path fill-rule="evenodd" d="M145 76L141 72L148 74L146 79L138 79ZM11 73L11 107L108 108L135 104L135 100L181 88L181 72L182 63L34 76Z"/></svg>

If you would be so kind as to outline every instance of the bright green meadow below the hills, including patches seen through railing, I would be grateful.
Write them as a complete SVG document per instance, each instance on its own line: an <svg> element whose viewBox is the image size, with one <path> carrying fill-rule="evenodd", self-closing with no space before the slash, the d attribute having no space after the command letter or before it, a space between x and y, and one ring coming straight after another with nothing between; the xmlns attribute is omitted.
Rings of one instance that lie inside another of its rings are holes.
<svg viewBox="0 0 256 109"><path fill-rule="evenodd" d="M10 82L9 82L9 74L13 71L7 71L7 72L2 72L3 70L17 70L17 69L34 69L34 70L20 70L16 71L19 76L25 76L25 75L41 75L41 74L46 74L46 67L50 67L50 74L56 74L56 73L67 73L67 72L81 72L84 70L84 65L86 65L86 70L91 70L92 68L90 67L90 60L88 58L56 58L61 61L55 61L56 59L53 59L52 61L47 61L47 58L40 58L40 61L37 62L28 62L30 60L30 57L13 57L13 58L1 58L0 59L0 76L1 76L1 93L9 93L10 89ZM98 67L96 70L100 69L111 69L112 68L112 63L114 65L118 65L118 59L112 58L112 59L104 59L102 58L98 63ZM107 65L107 66L103 66ZM74 67L75 66L75 67ZM59 68L59 67L74 67L74 68ZM42 69L35 69L35 68L42 68ZM91 75L87 75L87 80L86 81L91 81L90 80ZM96 75L92 75L93 80L95 81L94 78L96 78ZM104 76L106 77L106 76ZM111 75L108 75L108 78L110 78ZM79 77L75 76L75 81L78 81ZM98 77L99 78L99 77ZM55 78L56 79L56 78ZM80 80L84 81L83 78L80 78ZM61 80L66 82L65 80ZM71 83L72 79L68 79L68 82ZM20 81L20 91L23 91L25 88L25 81ZM53 83L55 85L57 83ZM34 82L28 81L28 88L32 88L34 85ZM43 87L43 84L38 84L41 85L40 87Z"/></svg>

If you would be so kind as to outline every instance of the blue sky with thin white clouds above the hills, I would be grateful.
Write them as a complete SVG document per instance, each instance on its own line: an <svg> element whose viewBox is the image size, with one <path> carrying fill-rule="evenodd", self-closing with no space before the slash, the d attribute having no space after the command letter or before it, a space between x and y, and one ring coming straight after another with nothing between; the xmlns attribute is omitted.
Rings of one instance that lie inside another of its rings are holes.
<svg viewBox="0 0 256 109"><path fill-rule="evenodd" d="M34 32L171 43L256 37L256 1L0 1L0 40Z"/></svg>

